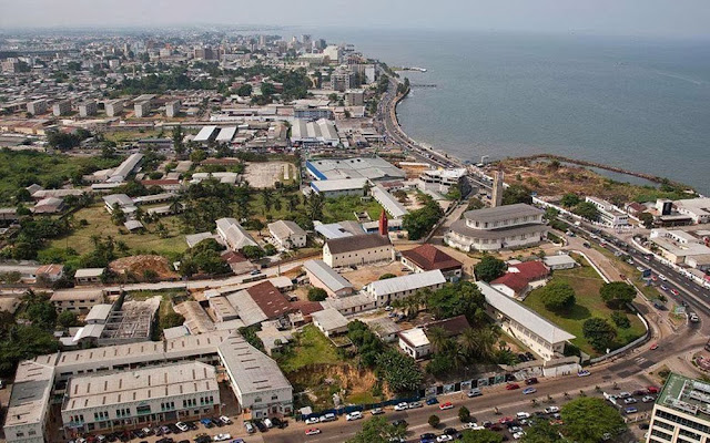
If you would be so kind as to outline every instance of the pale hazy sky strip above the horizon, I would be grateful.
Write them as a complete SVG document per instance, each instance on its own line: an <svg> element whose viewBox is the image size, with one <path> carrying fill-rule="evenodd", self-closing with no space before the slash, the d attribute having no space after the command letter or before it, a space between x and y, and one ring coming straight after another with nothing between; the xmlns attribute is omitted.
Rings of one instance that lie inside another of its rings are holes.
<svg viewBox="0 0 710 443"><path fill-rule="evenodd" d="M0 29L195 23L710 37L710 0L0 0Z"/></svg>

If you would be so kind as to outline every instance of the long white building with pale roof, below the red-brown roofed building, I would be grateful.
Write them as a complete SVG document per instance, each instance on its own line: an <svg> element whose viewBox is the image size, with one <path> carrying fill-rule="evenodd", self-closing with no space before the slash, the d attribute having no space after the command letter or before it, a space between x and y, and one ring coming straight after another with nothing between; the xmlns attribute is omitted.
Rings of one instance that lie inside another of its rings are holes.
<svg viewBox="0 0 710 443"><path fill-rule="evenodd" d="M402 277L375 280L363 288L377 307L388 306L423 289L436 290L444 286L446 277L440 270L427 270Z"/></svg>

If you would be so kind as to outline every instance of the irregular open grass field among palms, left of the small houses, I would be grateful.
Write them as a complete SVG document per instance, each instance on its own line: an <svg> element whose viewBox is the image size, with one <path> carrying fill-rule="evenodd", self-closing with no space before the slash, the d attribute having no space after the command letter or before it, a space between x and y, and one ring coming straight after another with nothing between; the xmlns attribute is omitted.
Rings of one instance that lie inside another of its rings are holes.
<svg viewBox="0 0 710 443"><path fill-rule="evenodd" d="M161 218L161 223L168 228L170 235L161 238L154 234L155 225L148 225L148 229L143 234L128 234L128 230L121 225L114 225L111 215L105 210L103 204L97 203L89 207L78 210L73 215L77 228L67 237L53 240L49 247L67 248L71 247L79 254L85 254L93 250L91 237L112 236L115 241L123 241L131 249L131 255L139 253L156 253L181 254L187 248L187 244L182 234L180 234L180 222L176 216ZM79 223L85 219L87 226L79 226Z"/></svg>

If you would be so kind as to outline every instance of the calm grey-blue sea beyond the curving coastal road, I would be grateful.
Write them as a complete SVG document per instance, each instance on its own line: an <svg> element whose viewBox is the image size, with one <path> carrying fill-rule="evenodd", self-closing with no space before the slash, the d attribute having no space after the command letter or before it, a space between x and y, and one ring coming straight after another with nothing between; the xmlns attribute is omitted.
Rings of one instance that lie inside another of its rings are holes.
<svg viewBox="0 0 710 443"><path fill-rule="evenodd" d="M459 158L555 153L710 194L710 41L320 30L407 72L405 131Z"/></svg>

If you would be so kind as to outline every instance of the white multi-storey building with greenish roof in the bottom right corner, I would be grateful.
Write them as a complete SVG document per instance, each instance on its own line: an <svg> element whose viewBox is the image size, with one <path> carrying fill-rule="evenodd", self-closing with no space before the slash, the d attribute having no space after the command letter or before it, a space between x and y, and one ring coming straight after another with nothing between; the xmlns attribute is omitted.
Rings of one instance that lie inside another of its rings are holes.
<svg viewBox="0 0 710 443"><path fill-rule="evenodd" d="M653 404L647 443L710 441L710 384L671 373Z"/></svg>

